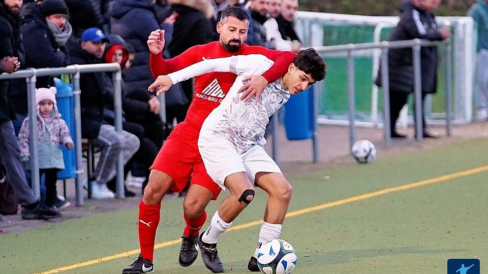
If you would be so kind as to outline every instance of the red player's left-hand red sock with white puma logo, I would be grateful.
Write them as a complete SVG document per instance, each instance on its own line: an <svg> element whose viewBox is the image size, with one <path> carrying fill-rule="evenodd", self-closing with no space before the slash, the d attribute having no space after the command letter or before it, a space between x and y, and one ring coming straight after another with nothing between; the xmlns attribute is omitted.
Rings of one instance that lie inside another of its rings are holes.
<svg viewBox="0 0 488 274"><path fill-rule="evenodd" d="M154 242L156 240L156 229L161 217L161 203L145 204L139 203L139 244L141 246L142 258L153 261Z"/></svg>

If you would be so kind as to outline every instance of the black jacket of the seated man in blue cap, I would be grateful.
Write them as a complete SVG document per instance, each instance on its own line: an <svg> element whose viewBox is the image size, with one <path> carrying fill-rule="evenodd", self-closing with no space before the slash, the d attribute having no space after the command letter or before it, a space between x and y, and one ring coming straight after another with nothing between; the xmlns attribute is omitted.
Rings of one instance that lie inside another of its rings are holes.
<svg viewBox="0 0 488 274"><path fill-rule="evenodd" d="M100 59L81 49L78 45L70 49L73 64L99 64ZM112 89L112 90L111 90ZM103 124L105 100L113 94L113 85L106 73L82 73L80 75L81 138L98 136ZM113 100L113 98L112 98Z"/></svg>

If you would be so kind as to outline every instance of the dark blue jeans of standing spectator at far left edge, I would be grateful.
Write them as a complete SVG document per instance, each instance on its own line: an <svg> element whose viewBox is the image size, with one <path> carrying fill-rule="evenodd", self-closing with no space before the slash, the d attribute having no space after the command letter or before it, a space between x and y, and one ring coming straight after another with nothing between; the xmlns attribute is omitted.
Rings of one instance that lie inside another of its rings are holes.
<svg viewBox="0 0 488 274"><path fill-rule="evenodd" d="M0 155L5 166L5 178L12 184L19 203L24 206L34 203L38 197L27 185L24 174L24 166L20 160L20 147L15 136L12 121L0 121Z"/></svg>

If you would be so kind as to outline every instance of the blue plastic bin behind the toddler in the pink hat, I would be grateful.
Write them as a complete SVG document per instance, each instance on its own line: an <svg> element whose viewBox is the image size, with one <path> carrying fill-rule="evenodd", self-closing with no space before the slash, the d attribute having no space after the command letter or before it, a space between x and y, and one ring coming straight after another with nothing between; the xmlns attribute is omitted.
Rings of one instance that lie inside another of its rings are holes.
<svg viewBox="0 0 488 274"><path fill-rule="evenodd" d="M62 115L62 118L68 124L71 137L75 140L75 117L73 114L74 102L73 102L73 85L67 84L57 78L54 78L54 86L57 89L56 101L57 109ZM75 149L67 149L62 146L63 160L65 161L65 169L59 170L57 173L58 180L64 180L69 178L76 178L76 151Z"/></svg>

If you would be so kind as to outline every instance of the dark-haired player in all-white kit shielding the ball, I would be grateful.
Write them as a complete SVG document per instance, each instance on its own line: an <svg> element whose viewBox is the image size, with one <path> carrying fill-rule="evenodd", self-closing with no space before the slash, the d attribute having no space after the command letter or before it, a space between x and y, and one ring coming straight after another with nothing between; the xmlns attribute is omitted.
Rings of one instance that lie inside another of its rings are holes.
<svg viewBox="0 0 488 274"><path fill-rule="evenodd" d="M271 60L260 54L206 59L181 71L160 76L148 88L153 90L161 86L160 94L172 84L200 74L231 72L238 75L221 104L202 123L198 138L198 149L207 174L223 189L228 188L231 192L198 239L203 263L212 272L224 271L217 251L218 237L253 200L255 186L280 192L280 196L269 198L266 204L256 250L248 263L251 271L259 271L257 256L261 245L280 236L291 199L291 185L262 147L266 143L264 131L269 117L291 95L324 79L326 64L314 49L301 50L289 64L287 73L268 84L257 102L242 101L238 94L242 80L262 74L272 64ZM208 94L211 92L209 90Z"/></svg>

